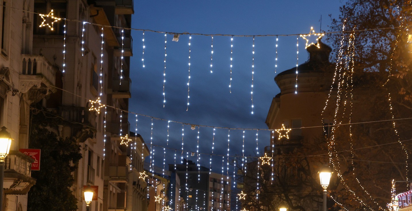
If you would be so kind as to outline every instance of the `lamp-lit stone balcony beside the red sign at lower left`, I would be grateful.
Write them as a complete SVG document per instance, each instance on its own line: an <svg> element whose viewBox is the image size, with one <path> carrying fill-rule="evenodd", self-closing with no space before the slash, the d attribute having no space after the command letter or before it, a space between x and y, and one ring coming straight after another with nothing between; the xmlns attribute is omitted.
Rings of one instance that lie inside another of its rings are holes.
<svg viewBox="0 0 412 211"><path fill-rule="evenodd" d="M36 184L31 177L34 159L17 150L10 150L5 159L4 189L6 194L24 195Z"/></svg>

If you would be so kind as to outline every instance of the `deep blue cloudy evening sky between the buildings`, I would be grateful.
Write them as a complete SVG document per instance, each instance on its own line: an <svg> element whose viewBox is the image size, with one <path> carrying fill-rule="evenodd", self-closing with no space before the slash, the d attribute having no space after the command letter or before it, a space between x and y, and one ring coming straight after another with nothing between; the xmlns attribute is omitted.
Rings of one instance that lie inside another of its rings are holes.
<svg viewBox="0 0 412 211"><path fill-rule="evenodd" d="M314 26L318 33L321 15L322 31L328 31L331 22L329 14L332 14L333 18L338 18L339 6L342 4L337 0L135 0L132 28L177 33L259 35L309 33L310 27ZM211 37L192 35L190 106L186 111L189 35L180 35L178 42L172 42L173 35L167 35L165 108L162 96L164 34L145 32L145 68L142 67L141 61L142 32L132 31L132 37L130 111L190 124L267 129L265 119L272 98L279 93L279 88L273 80L276 75L276 37L255 38L254 114L251 114L250 100L253 38L234 37L233 80L230 94L230 37L213 38L213 73L210 73ZM296 65L296 36L279 37L278 45L279 73ZM299 50L301 64L309 58L302 38L299 38ZM148 144L151 137L150 121L150 118L138 117L138 133ZM133 115L129 115L129 122L131 131L134 131ZM197 128L191 130L190 126L185 126L184 129L184 150L195 152ZM242 154L242 133L242 130L230 131L230 155ZM214 153L227 154L227 134L227 129L216 129ZM246 131L245 134L245 155L255 155L256 131ZM200 128L199 152L211 153L212 138L212 128ZM177 162L180 162L182 125L171 122L169 145L166 145L166 140L167 122L153 120L153 144L177 149ZM269 131L259 131L259 155L263 148L269 145L269 141ZM155 165L163 166L163 148L154 149ZM173 163L174 153L175 150L166 149L166 166ZM197 156L189 156L189 159L196 162ZM213 156L212 159L212 169L219 171L222 165L221 157ZM201 155L201 165L209 166L208 155Z"/></svg>

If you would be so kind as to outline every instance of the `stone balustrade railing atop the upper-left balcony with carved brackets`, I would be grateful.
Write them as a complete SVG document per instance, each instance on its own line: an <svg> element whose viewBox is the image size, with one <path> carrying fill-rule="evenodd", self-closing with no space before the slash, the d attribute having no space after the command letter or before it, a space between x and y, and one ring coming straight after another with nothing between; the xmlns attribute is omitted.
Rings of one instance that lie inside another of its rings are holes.
<svg viewBox="0 0 412 211"><path fill-rule="evenodd" d="M41 55L22 55L22 75L42 75L53 86L56 82L56 69Z"/></svg>

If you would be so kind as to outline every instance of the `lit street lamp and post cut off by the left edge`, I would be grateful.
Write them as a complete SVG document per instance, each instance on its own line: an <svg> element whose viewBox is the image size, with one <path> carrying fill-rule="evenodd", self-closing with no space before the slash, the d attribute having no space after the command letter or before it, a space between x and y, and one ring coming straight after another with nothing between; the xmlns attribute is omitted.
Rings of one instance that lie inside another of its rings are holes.
<svg viewBox="0 0 412 211"><path fill-rule="evenodd" d="M7 132L7 128L3 126L0 131L0 211L3 210L4 159L9 155L12 140L13 138L10 136L10 133Z"/></svg>

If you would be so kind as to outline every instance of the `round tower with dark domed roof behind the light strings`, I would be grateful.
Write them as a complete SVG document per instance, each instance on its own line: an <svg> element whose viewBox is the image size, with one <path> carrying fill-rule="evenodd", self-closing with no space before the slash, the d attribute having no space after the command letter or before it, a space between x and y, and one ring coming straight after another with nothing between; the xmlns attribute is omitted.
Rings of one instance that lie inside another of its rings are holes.
<svg viewBox="0 0 412 211"><path fill-rule="evenodd" d="M297 66L297 94L296 67L285 70L274 78L281 92L273 98L267 114L266 124L269 129L280 129L282 124L286 128L328 124L322 122L321 113L328 97L334 65L329 61L332 49L321 41L319 46L309 46L309 60ZM311 138L322 137L323 133L322 127L292 129L289 132L289 140L282 138L278 141L275 132L277 153L293 150L299 147L303 138L310 141Z"/></svg>

